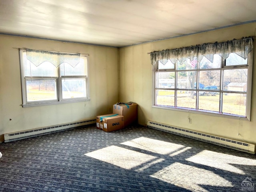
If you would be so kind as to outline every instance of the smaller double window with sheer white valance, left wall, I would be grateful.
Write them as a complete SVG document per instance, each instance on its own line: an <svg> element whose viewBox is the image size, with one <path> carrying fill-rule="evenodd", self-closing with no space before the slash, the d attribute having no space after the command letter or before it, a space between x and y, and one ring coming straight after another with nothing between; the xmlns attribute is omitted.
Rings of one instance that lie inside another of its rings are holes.
<svg viewBox="0 0 256 192"><path fill-rule="evenodd" d="M23 106L88 100L87 55L20 50Z"/></svg>

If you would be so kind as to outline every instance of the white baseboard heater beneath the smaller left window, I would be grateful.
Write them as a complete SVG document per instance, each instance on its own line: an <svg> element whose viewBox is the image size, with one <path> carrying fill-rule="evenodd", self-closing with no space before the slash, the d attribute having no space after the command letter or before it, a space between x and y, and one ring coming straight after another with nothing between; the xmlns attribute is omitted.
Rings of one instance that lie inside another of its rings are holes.
<svg viewBox="0 0 256 192"><path fill-rule="evenodd" d="M21 132L8 133L8 134L4 134L4 142L30 138L34 136L40 136L40 135L50 134L50 133L64 131L64 130L70 130L70 129L77 128L78 126L84 126L84 125L90 125L90 124L96 124L96 119L72 122L67 124L60 124L56 126L49 126L44 128L21 131Z"/></svg>

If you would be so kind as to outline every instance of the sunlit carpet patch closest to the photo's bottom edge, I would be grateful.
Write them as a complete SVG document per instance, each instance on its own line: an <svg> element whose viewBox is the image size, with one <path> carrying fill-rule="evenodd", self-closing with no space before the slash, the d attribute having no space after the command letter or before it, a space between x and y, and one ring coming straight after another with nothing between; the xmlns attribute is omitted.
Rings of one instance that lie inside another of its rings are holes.
<svg viewBox="0 0 256 192"><path fill-rule="evenodd" d="M177 175L177 172L179 175ZM187 190L205 191L200 185L233 186L231 182L211 171L178 162L152 174L151 177Z"/></svg>

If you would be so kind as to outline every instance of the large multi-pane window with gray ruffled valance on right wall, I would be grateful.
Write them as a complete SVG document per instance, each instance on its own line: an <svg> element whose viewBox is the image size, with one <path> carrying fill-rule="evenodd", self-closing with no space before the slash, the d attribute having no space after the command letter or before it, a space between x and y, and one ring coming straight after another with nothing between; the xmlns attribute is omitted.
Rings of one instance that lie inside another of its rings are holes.
<svg viewBox="0 0 256 192"><path fill-rule="evenodd" d="M154 106L250 119L252 40L240 41L152 52Z"/></svg>

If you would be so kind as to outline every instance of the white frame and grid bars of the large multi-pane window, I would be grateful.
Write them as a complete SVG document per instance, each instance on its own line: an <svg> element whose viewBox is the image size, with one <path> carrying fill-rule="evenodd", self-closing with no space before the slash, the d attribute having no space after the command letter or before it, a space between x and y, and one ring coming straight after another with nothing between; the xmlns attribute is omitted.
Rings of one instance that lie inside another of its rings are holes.
<svg viewBox="0 0 256 192"><path fill-rule="evenodd" d="M178 70L177 68L177 62L174 64L173 69L158 69L158 64L152 65L153 68L153 108L160 108L160 109L166 109L166 110L176 110L176 111L182 111L182 112L192 112L196 114L204 114L204 115L210 115L210 116L219 116L219 117L227 117L227 118L239 118L244 120L249 120L251 118L251 96L252 96L252 66L253 66L253 53L254 49L248 54L247 57L247 65L232 65L232 66L226 66L225 62L226 60L222 59L220 68L209 68L209 69L200 69L199 64L197 63L197 66L195 69L188 69L188 70ZM215 111L208 111L208 110L200 110L198 109L198 100L199 100L199 91L202 91L202 89L199 89L199 72L200 71L210 71L210 70L220 70L220 89L216 90L214 92L220 93L220 106L219 109L222 111L222 101L223 101L223 93L241 93L240 91L227 91L223 90L223 73L224 70L230 70L230 69L248 69L247 74L247 91L246 91L246 116L240 116L236 114L228 114L228 113L222 113L222 112L215 112ZM180 89L177 88L177 73L178 72L186 72L186 71L196 71L196 89ZM157 72L175 72L175 87L174 88L157 88ZM184 107L178 107L178 106L164 106L164 105L157 105L157 90L174 90L175 92L175 101L174 103L177 104L177 92L179 90L191 90L196 91L196 108L184 108Z"/></svg>

